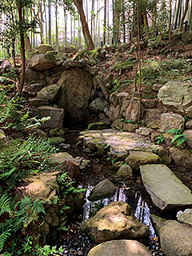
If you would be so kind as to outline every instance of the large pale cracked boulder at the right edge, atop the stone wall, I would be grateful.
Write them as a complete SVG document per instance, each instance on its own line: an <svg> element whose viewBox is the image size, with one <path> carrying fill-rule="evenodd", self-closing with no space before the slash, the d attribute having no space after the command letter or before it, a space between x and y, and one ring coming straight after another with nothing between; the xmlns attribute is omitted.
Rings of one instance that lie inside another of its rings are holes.
<svg viewBox="0 0 192 256"><path fill-rule="evenodd" d="M166 82L158 98L167 110L192 118L192 87L189 82Z"/></svg>

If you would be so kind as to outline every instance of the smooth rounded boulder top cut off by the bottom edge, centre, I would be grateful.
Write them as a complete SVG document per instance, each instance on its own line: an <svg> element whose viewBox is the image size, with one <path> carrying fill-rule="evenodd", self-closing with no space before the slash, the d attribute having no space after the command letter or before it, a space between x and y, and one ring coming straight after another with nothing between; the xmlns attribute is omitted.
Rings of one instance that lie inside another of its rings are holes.
<svg viewBox="0 0 192 256"><path fill-rule="evenodd" d="M113 240L94 246L88 256L152 256L141 242L134 240Z"/></svg>

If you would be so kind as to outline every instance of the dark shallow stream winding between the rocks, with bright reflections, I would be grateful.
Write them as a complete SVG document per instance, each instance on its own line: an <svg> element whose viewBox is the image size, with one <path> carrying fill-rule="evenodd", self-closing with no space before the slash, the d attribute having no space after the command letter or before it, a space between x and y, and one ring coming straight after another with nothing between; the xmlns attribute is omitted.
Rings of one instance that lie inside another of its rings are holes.
<svg viewBox="0 0 192 256"><path fill-rule="evenodd" d="M78 143L78 132L71 132L66 134L66 143L70 144L70 149L66 150L74 158L81 157L89 159L92 163L92 169L86 170L82 174L81 186L86 188L86 203L83 206L82 221L90 218L96 214L98 210L106 206L110 202L123 201L128 203L133 210L134 216L146 226L150 228L150 238L144 239L143 244L150 249L153 255L163 256L162 250L159 246L157 234L150 222L150 214L158 215L158 217L166 219L175 219L176 212L162 212L159 210L150 199L150 195L146 193L145 187L142 185L141 175L134 171L134 178L119 179L116 176L117 170L113 168L106 158L98 154L91 154L82 146L76 146ZM115 194L112 198L104 198L95 202L90 202L88 197L90 191L98 182L104 178L108 178L116 186ZM74 230L73 230L74 229ZM78 224L70 224L70 232L59 238L59 244L66 249L66 254L63 255L87 255L89 250L95 245L93 241L86 235L82 234ZM73 246L73 245L78 245Z"/></svg>

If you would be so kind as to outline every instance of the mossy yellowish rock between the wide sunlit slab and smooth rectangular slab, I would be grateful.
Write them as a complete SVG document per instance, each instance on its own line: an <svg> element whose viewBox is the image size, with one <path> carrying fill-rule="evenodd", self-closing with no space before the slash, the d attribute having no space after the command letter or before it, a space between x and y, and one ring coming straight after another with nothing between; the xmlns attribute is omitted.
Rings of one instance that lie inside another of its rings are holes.
<svg viewBox="0 0 192 256"><path fill-rule="evenodd" d="M138 169L140 165L156 162L158 162L158 155L152 152L130 151L129 156L126 158L126 163L133 169Z"/></svg>

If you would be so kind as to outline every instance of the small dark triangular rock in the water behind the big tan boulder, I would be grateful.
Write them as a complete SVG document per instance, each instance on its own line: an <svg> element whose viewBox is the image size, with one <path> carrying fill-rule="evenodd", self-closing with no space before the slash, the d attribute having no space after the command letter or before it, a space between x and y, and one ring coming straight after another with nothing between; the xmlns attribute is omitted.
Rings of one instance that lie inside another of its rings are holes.
<svg viewBox="0 0 192 256"><path fill-rule="evenodd" d="M108 198L114 195L115 186L107 178L99 182L90 193L90 200L95 201L102 198Z"/></svg>

